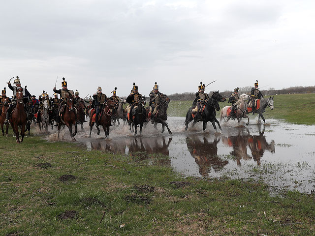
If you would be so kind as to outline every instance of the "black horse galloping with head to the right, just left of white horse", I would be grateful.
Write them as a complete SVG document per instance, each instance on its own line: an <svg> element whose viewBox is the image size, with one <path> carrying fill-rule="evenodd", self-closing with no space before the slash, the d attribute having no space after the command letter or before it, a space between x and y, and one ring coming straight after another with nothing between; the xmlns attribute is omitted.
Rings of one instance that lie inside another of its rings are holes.
<svg viewBox="0 0 315 236"><path fill-rule="evenodd" d="M225 102L226 98L223 97L220 93L219 90L213 92L211 98L209 101L205 102L204 104L204 108L203 111L201 113L201 120L203 122L203 131L205 131L206 127L207 127L207 122L210 121L214 127L215 130L217 130L216 124L215 122L218 124L220 130L221 129L221 125L219 123L219 120L216 118L216 110L220 111L220 105L219 102ZM195 106L192 106L188 109L188 112L186 114L186 119L184 124L186 125L185 130L188 129L188 124L190 121L193 121L193 125L198 122L199 120L197 120L196 118L192 117L191 111Z"/></svg>

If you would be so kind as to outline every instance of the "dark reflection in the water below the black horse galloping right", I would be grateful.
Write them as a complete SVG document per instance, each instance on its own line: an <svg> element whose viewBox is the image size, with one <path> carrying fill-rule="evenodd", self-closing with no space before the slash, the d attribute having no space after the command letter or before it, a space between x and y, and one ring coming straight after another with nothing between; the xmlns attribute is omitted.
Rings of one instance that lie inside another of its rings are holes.
<svg viewBox="0 0 315 236"><path fill-rule="evenodd" d="M218 156L219 142L220 138L217 137L213 142L209 142L207 137L200 135L186 138L187 148L199 166L201 176L208 177L211 167L219 171L228 164L228 161Z"/></svg>

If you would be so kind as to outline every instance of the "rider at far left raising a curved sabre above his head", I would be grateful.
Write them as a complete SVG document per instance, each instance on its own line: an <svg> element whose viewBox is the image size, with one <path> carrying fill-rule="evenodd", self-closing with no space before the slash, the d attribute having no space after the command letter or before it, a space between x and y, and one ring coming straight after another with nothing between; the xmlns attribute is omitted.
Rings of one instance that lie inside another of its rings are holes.
<svg viewBox="0 0 315 236"><path fill-rule="evenodd" d="M24 110L27 114L27 119L28 119L27 122L31 123L31 120L29 120L29 113L28 113L27 107L26 107L26 104L28 103L29 99L32 97L31 93L28 91L28 89L21 87L21 81L20 81L18 76L16 77L16 79L14 80L14 83L13 83L16 86L12 86L10 82L8 82L7 84L8 84L9 89L11 89L13 91L13 97L14 98L16 97L17 92L23 92ZM13 108L15 108L15 107L16 107L16 100L12 99L12 102L10 103L8 110L6 111L6 117L5 117L4 123L9 122L11 112L12 112Z"/></svg>

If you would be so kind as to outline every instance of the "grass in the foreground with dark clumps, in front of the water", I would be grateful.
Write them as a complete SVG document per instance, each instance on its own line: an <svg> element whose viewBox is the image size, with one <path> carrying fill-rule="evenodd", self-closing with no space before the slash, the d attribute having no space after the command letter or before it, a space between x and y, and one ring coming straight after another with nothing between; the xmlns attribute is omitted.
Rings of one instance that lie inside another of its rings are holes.
<svg viewBox="0 0 315 236"><path fill-rule="evenodd" d="M0 137L0 235L312 235L314 196L183 178L166 156Z"/></svg>

